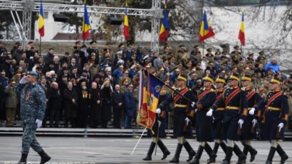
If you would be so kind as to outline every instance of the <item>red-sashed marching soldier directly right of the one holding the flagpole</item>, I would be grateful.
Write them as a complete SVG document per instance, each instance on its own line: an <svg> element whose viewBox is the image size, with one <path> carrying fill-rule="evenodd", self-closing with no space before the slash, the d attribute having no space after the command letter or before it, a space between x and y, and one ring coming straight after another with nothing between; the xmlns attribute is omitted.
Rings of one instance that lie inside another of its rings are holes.
<svg viewBox="0 0 292 164"><path fill-rule="evenodd" d="M194 109L197 109L196 134L197 141L199 142L199 148L194 159L189 162L191 164L199 164L199 159L201 158L204 150L210 158L216 158L213 154L212 148L207 143L213 141L212 131L207 130L212 129L213 119L212 117L206 115L209 107L216 101L216 93L214 89L212 89L214 80L209 76L204 77L203 80L204 88L200 89L198 92L198 102L197 104L192 104Z"/></svg>

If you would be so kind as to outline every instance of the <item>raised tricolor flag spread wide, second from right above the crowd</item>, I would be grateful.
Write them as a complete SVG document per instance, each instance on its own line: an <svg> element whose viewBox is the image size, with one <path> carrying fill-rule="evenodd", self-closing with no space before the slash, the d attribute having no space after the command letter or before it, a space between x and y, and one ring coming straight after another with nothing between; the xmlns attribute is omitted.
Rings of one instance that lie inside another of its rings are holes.
<svg viewBox="0 0 292 164"><path fill-rule="evenodd" d="M201 24L201 29L199 31L199 41L202 42L203 40L211 38L214 35L215 33L211 27L211 24L207 20L207 13L206 11L204 11L203 21Z"/></svg>

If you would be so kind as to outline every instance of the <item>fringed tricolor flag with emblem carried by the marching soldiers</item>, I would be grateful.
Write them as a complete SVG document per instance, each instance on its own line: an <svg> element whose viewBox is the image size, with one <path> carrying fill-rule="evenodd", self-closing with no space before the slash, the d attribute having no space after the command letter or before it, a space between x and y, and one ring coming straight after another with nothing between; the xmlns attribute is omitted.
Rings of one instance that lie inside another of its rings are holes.
<svg viewBox="0 0 292 164"><path fill-rule="evenodd" d="M163 85L163 82L147 70L140 70L140 110L137 114L137 124L152 130L152 126L155 124L160 90Z"/></svg>

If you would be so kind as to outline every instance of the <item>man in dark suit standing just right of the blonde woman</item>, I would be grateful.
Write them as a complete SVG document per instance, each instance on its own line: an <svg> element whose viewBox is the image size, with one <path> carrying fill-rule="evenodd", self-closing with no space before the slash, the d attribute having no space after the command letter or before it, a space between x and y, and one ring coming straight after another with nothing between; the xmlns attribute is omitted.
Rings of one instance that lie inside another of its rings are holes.
<svg viewBox="0 0 292 164"><path fill-rule="evenodd" d="M124 95L120 92L120 85L115 85L115 91L113 92L113 126L116 129L120 129L120 118L123 112Z"/></svg>

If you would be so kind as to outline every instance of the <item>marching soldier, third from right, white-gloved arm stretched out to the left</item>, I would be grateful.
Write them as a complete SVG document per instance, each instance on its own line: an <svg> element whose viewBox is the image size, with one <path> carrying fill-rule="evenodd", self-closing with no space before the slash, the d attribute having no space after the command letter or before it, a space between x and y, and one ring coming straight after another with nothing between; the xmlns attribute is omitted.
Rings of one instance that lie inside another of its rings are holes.
<svg viewBox="0 0 292 164"><path fill-rule="evenodd" d="M239 157L237 164L241 164L246 160L246 155L242 153L239 146L234 141L239 141L239 133L241 133L244 118L246 117L247 103L246 93L239 88L239 75L234 73L229 77L229 88L224 90L223 97L215 102L207 116L212 116L213 111L219 106L225 107L224 114L224 139L227 140L227 150L225 160L222 164L229 164L232 156L232 151Z"/></svg>

